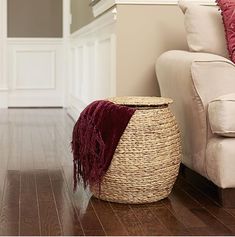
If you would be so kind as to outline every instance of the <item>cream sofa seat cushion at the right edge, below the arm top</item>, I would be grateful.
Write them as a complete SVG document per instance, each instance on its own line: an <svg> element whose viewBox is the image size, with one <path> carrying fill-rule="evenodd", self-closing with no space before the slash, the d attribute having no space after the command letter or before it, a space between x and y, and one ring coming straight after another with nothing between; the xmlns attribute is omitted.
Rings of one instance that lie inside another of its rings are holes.
<svg viewBox="0 0 235 237"><path fill-rule="evenodd" d="M235 94L212 100L208 106L208 116L214 134L235 137Z"/></svg>

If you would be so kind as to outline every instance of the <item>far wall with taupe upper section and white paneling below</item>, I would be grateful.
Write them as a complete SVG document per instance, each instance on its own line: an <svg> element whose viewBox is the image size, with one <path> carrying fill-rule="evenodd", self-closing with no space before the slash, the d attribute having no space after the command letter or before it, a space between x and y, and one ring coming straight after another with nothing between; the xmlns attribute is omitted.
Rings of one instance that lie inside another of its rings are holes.
<svg viewBox="0 0 235 237"><path fill-rule="evenodd" d="M65 106L66 1L1 0L0 107Z"/></svg>

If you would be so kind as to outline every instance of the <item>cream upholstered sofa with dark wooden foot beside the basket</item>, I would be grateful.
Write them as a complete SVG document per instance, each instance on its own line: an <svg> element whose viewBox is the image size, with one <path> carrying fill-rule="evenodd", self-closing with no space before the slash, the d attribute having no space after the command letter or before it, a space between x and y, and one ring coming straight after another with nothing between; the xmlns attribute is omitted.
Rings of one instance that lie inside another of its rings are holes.
<svg viewBox="0 0 235 237"><path fill-rule="evenodd" d="M219 31L223 29L222 17L215 7L181 3L181 8L185 18L189 17L187 9L193 14L195 9L213 8L217 21L221 19ZM195 24L195 19L192 22ZM186 31L193 27L191 23L187 19ZM189 37L192 32L197 38ZM174 100L172 110L183 140L182 163L219 187L222 205L235 206L235 64L226 57L225 40L219 42L218 49L217 44L213 48L210 42L201 42L213 40L211 35L201 39L192 30L187 37L189 51L168 51L157 60L161 95ZM192 45L196 47L191 48Z"/></svg>

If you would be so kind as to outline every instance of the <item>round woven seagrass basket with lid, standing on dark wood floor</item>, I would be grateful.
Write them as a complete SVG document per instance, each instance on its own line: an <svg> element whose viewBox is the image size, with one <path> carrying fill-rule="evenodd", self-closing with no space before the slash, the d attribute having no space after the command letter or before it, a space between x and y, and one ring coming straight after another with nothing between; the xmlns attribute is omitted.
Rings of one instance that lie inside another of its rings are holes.
<svg viewBox="0 0 235 237"><path fill-rule="evenodd" d="M115 97L116 104L135 107L95 197L119 203L148 203L166 198L181 161L180 133L162 97Z"/></svg>

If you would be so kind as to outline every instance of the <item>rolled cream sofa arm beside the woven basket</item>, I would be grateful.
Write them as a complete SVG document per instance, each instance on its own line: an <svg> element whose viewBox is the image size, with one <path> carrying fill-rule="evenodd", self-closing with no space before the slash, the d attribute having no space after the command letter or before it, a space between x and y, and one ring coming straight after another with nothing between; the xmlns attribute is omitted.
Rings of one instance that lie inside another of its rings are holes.
<svg viewBox="0 0 235 237"><path fill-rule="evenodd" d="M235 65L207 53L168 51L156 63L161 95L174 100L173 112L183 136L183 163L207 176L205 152L210 129L208 103L235 92Z"/></svg>

